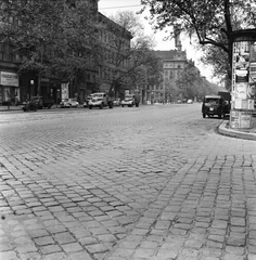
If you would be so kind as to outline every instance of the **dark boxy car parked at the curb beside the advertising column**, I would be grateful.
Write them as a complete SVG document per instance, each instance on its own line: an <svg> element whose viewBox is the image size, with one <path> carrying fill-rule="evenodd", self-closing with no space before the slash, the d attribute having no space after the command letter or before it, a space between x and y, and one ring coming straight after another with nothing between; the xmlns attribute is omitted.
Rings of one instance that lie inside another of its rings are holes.
<svg viewBox="0 0 256 260"><path fill-rule="evenodd" d="M225 100L220 95L205 95L202 104L203 118L217 115L219 118L225 116Z"/></svg>

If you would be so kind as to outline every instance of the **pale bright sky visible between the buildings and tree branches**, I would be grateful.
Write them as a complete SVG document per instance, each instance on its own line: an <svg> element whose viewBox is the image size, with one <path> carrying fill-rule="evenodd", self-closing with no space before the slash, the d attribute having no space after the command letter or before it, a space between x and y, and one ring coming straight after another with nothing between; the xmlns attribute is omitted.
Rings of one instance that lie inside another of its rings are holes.
<svg viewBox="0 0 256 260"><path fill-rule="evenodd" d="M140 11L142 5L140 4L140 0L100 0L99 1L99 11L104 15L112 15L115 14L118 11L133 11L138 12ZM145 34L153 35L154 31L149 25L149 22L146 22L143 17L145 15L141 15L141 22L143 23L145 27ZM164 38L167 36L165 31L158 31L154 34L154 38L156 41L156 48L155 50L161 51L168 51L175 49L175 40L168 40L165 41ZM212 78L212 70L209 67L205 67L202 63L200 63L200 52L193 48L192 44L190 44L190 40L185 38L184 36L181 36L182 41L182 50L187 51L187 57L194 61L195 66L201 70L201 75L205 76L209 81L215 81L215 79Z"/></svg>

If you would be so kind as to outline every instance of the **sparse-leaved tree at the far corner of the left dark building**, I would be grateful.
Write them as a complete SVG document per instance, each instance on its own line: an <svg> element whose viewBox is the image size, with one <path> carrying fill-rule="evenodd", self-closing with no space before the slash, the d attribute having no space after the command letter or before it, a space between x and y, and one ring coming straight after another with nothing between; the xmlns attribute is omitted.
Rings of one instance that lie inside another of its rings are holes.
<svg viewBox="0 0 256 260"><path fill-rule="evenodd" d="M144 66L156 61L157 57L152 52L154 41L151 37L144 35L143 26L138 15L133 12L125 11L118 12L110 18L119 26L113 25L112 28L107 28L115 35L110 42L112 46L112 69L102 64L102 70L104 70L105 77L111 82L108 92L114 92L116 95L124 92L127 87L130 89L130 86L132 86L136 89L141 82L140 77L144 77ZM108 23L106 26L111 25ZM131 41L130 46L128 44L129 41ZM102 50L105 50L106 53L110 51L107 47L102 48ZM106 58L104 60L106 61Z"/></svg>

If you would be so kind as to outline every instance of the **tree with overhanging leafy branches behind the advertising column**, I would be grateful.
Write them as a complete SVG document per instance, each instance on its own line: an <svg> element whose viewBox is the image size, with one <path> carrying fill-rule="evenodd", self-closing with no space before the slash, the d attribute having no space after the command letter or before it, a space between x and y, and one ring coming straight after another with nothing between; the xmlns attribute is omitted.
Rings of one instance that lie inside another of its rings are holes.
<svg viewBox="0 0 256 260"><path fill-rule="evenodd" d="M141 12L149 8L148 18L156 30L169 30L169 37L183 31L201 46L218 48L227 53L230 68L231 34L255 25L255 0L141 0L141 3L144 5Z"/></svg>

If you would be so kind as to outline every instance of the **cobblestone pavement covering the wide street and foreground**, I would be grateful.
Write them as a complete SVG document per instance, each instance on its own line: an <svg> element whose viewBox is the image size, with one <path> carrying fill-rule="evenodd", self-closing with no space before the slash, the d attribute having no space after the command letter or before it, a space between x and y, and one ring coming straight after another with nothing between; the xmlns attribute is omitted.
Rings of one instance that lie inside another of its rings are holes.
<svg viewBox="0 0 256 260"><path fill-rule="evenodd" d="M0 115L0 259L255 260L256 142L200 106Z"/></svg>

